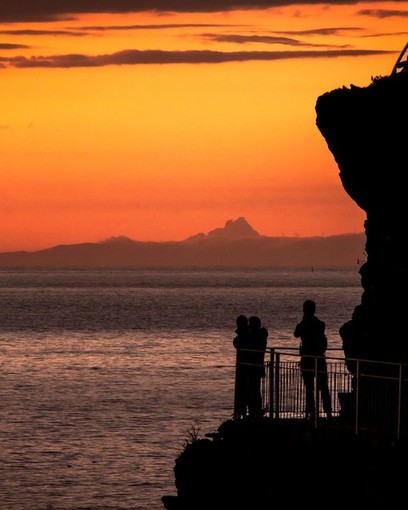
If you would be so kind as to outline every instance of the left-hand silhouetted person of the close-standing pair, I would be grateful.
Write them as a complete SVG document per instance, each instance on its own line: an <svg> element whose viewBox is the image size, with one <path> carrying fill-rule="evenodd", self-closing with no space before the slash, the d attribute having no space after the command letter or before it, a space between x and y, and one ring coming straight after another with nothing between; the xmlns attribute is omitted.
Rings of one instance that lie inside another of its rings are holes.
<svg viewBox="0 0 408 510"><path fill-rule="evenodd" d="M235 419L244 418L248 411L248 355L249 345L249 324L246 315L238 315L235 319L237 329L236 336L232 341L235 347L235 393L234 393L234 414Z"/></svg>

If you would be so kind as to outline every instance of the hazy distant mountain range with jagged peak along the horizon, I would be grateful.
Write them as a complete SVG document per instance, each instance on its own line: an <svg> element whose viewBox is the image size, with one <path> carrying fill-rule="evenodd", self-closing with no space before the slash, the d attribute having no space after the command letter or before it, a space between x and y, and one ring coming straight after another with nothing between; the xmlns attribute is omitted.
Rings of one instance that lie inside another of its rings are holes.
<svg viewBox="0 0 408 510"><path fill-rule="evenodd" d="M364 260L365 234L268 237L245 218L184 241L112 237L99 243L0 253L0 267L341 267Z"/></svg>

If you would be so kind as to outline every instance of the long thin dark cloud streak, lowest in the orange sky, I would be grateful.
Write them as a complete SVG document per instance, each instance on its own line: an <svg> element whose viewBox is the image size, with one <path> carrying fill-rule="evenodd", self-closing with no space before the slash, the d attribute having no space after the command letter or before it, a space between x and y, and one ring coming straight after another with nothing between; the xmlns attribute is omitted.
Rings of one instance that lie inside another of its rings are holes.
<svg viewBox="0 0 408 510"><path fill-rule="evenodd" d="M282 60L300 58L336 58L362 57L393 53L383 50L336 51L161 51L161 50L125 50L106 55L52 55L47 57L13 57L0 58L0 65L11 67L101 67L109 65L137 64L218 64L223 62L246 62L249 60Z"/></svg>

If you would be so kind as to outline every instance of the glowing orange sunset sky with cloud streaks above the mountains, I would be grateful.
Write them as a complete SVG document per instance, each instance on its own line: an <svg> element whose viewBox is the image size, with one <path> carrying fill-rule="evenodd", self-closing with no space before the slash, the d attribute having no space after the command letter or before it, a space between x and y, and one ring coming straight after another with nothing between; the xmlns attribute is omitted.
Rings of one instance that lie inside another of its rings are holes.
<svg viewBox="0 0 408 510"><path fill-rule="evenodd" d="M408 2L38 3L0 0L0 251L181 240L239 216L270 236L363 231L314 107L391 72ZM158 10L131 12L144 3Z"/></svg>

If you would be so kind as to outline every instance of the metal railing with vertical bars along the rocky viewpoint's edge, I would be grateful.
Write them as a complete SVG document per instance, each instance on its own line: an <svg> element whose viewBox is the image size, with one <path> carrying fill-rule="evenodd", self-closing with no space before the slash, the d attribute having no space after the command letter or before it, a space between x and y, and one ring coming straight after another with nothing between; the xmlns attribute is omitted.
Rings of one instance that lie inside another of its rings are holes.
<svg viewBox="0 0 408 510"><path fill-rule="evenodd" d="M306 393L297 348L270 347L261 380L265 416L271 419L305 419ZM317 427L326 419L317 385L314 396ZM378 431L397 439L408 434L408 365L361 359L344 359L339 349L325 357L332 401L332 418L356 434ZM347 368L348 367L348 368Z"/></svg>

